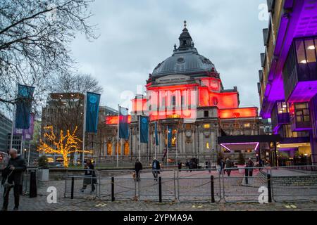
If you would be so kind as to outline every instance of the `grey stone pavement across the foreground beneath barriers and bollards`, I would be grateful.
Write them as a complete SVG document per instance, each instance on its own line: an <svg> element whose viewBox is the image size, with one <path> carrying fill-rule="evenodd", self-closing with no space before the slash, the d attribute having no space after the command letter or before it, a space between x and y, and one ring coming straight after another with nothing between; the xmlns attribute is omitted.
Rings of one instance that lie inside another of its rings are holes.
<svg viewBox="0 0 317 225"><path fill-rule="evenodd" d="M39 182L37 188L37 198L29 198L21 195L21 211L317 211L317 200L311 201L290 201L285 199L282 203L260 204L259 186L265 185L265 179L254 172L251 184L244 184L243 174L233 171L231 176L219 177L216 171L193 171L180 172L180 179L174 179L177 172L161 172L163 203L159 203L158 182L154 181L150 171L141 174L141 181L135 182L132 174L112 174L115 176L115 197L116 201L111 202L111 179L109 174L101 174L103 179L98 181L100 190L97 193L90 193L90 186L84 193L80 192L82 187L82 177L75 178L74 199L70 199L71 182L68 179L60 181ZM210 203L211 175L215 182L216 203ZM225 186L225 200L220 199L218 185ZM56 188L56 203L48 203L52 200L49 187ZM180 188L175 188L180 187ZM176 191L180 190L180 191ZM3 190L2 190L3 191ZM316 191L316 189L314 190ZM241 193L241 195L237 195ZM317 192L316 192L317 193ZM1 193L2 195L2 193ZM139 200L135 198L139 195ZM65 198L65 196L67 198ZM175 200L176 196L176 200ZM96 198L98 197L98 198ZM178 199L182 200L179 202ZM0 198L0 204L2 204ZM190 202L188 202L188 200ZM245 201L251 200L252 203ZM209 201L209 202L194 202ZM218 202L220 201L220 202ZM217 203L218 202L218 203ZM9 210L13 208L13 190L10 195Z"/></svg>

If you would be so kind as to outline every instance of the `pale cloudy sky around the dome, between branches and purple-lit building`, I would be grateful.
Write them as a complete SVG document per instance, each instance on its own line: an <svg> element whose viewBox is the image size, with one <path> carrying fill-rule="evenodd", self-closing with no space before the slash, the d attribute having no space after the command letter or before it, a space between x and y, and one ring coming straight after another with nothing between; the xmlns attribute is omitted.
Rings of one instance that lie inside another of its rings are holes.
<svg viewBox="0 0 317 225"><path fill-rule="evenodd" d="M265 0L96 0L99 39L77 35L71 48L81 72L103 86L101 103L116 108L120 95L137 91L178 44L183 20L199 53L215 63L225 88L237 86L241 105L259 106L256 83L264 51L259 4Z"/></svg>

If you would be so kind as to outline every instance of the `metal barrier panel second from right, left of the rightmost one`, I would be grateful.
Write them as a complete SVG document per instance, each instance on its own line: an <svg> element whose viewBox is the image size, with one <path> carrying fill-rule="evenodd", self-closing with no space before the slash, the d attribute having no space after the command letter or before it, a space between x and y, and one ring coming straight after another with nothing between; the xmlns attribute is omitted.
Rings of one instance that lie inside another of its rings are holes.
<svg viewBox="0 0 317 225"><path fill-rule="evenodd" d="M268 186L267 176L261 172L262 169L259 167L225 169L222 174L225 202L259 202L261 194L259 188Z"/></svg>

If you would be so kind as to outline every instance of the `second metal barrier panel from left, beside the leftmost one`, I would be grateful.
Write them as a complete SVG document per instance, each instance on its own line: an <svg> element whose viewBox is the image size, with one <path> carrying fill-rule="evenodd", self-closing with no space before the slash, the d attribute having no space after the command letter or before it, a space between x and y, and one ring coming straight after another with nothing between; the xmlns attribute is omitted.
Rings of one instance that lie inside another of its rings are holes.
<svg viewBox="0 0 317 225"><path fill-rule="evenodd" d="M135 200L135 170L104 170L99 172L99 198L102 200Z"/></svg>

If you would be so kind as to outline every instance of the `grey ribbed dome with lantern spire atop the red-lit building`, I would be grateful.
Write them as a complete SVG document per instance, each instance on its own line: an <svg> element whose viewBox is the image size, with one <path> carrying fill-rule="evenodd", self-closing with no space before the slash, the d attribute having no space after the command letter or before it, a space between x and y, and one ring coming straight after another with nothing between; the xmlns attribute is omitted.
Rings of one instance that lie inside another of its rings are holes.
<svg viewBox="0 0 317 225"><path fill-rule="evenodd" d="M192 37L186 28L180 34L180 46L174 46L173 56L170 56L156 66L152 72L152 77L162 77L165 75L197 75L206 72L216 72L215 65L208 58L199 55L194 48Z"/></svg>

